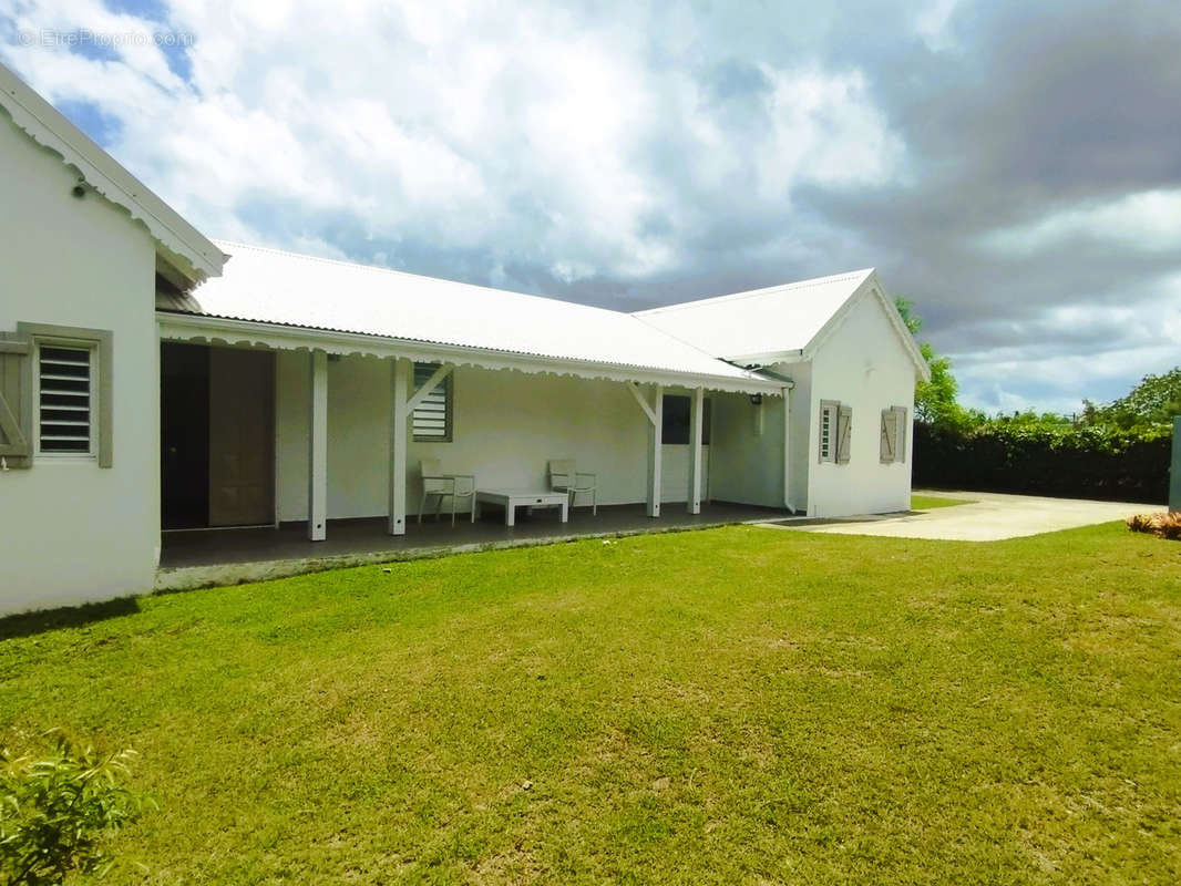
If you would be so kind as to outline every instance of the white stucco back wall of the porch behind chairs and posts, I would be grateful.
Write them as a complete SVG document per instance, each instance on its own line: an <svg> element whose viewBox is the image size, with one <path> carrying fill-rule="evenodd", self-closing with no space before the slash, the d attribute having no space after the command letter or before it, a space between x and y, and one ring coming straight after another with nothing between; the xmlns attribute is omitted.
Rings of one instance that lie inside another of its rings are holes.
<svg viewBox="0 0 1181 886"><path fill-rule="evenodd" d="M329 519L386 513L390 371L368 357L328 363ZM281 351L276 378L279 519L306 520L308 354ZM409 513L418 510L422 458L482 486L531 488L544 488L549 458L575 458L599 475L601 504L645 500L647 419L621 383L461 366L452 390L454 441L410 444ZM665 501L686 499L687 450L663 450ZM707 452L703 462L707 477Z"/></svg>

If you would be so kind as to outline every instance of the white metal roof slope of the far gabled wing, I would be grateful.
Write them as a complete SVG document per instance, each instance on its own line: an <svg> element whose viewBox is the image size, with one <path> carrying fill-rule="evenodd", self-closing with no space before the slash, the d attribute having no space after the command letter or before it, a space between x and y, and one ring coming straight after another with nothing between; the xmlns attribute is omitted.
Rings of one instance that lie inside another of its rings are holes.
<svg viewBox="0 0 1181 886"><path fill-rule="evenodd" d="M724 358L803 351L873 268L640 311L634 317Z"/></svg>

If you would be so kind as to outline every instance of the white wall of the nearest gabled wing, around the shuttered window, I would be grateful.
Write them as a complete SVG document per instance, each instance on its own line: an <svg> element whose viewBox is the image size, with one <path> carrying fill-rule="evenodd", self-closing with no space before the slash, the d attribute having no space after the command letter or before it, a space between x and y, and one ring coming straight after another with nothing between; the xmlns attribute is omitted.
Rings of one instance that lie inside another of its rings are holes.
<svg viewBox="0 0 1181 886"><path fill-rule="evenodd" d="M0 612L148 591L159 546L159 346L146 230L0 115L0 330L115 333L113 467L43 457L0 473Z"/></svg>

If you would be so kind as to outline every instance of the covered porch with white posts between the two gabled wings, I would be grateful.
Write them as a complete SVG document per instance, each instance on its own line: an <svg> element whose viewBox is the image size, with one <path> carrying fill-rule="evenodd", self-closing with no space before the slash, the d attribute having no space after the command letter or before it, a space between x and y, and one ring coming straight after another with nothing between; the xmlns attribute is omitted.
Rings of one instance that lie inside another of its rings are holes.
<svg viewBox="0 0 1181 886"><path fill-rule="evenodd" d="M788 512L790 383L158 317L162 589ZM596 476L598 515L418 521L428 464L544 493L556 460Z"/></svg>

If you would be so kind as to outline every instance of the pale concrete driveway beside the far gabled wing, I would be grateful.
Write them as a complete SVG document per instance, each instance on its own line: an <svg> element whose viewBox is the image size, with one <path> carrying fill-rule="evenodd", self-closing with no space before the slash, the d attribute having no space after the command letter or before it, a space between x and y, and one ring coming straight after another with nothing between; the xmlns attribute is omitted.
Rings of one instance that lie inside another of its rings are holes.
<svg viewBox="0 0 1181 886"><path fill-rule="evenodd" d="M1077 526L1123 520L1130 514L1166 510L1162 504L1129 504L1078 499L1039 499L1032 495L1000 493L947 493L915 490L918 495L967 499L957 504L918 514L879 514L833 522L776 521L769 528L841 535L887 535L900 539L945 539L948 541L1000 541L1022 535L1038 535Z"/></svg>

